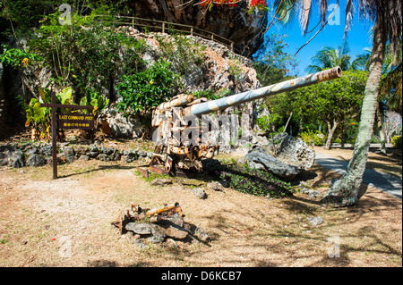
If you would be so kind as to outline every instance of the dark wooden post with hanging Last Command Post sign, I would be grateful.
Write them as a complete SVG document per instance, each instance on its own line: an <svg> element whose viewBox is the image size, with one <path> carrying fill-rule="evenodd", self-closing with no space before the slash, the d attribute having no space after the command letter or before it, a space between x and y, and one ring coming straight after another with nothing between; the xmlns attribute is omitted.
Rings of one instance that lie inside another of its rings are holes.
<svg viewBox="0 0 403 285"><path fill-rule="evenodd" d="M56 132L57 129L80 129L92 130L94 129L94 116L92 114L75 114L75 113L61 113L58 118L56 117L56 108L68 109L85 109L93 110L94 106L81 106L81 105L63 105L56 104L56 92L51 93L50 104L40 104L41 107L48 107L52 110L52 157L53 157L53 179L57 179L57 144Z"/></svg>

